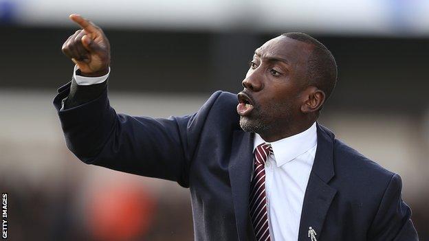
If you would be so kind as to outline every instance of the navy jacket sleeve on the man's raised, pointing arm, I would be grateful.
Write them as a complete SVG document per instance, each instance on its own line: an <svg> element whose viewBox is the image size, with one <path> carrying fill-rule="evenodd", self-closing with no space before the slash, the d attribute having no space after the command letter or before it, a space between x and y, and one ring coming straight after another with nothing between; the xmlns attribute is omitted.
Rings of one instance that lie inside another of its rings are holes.
<svg viewBox="0 0 429 241"><path fill-rule="evenodd" d="M177 181L188 187L188 170L214 93L194 115L154 119L117 114L108 88L83 104L62 108L71 82L58 89L54 106L65 143L81 161L113 170Z"/></svg>

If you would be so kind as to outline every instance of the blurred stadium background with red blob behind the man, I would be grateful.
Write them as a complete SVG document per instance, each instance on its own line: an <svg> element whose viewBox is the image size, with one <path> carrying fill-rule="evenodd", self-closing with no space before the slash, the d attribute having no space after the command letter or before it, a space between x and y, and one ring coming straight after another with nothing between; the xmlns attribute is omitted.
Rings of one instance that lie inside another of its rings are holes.
<svg viewBox="0 0 429 241"><path fill-rule="evenodd" d="M0 0L0 190L10 240L192 240L188 190L81 163L52 105L79 13L111 41L119 113L185 115L241 90L252 53L283 32L331 49L339 81L320 123L397 172L429 240L429 1ZM371 188L371 187L369 187Z"/></svg>

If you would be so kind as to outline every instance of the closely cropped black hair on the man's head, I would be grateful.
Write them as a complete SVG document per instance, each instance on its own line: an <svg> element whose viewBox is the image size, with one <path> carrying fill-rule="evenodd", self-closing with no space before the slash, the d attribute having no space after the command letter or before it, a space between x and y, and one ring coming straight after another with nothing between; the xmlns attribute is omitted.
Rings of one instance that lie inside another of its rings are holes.
<svg viewBox="0 0 429 241"><path fill-rule="evenodd" d="M316 38L301 32L289 32L282 34L287 38L313 45L309 60L307 62L307 80L325 92L326 100L331 96L337 82L337 63L329 49Z"/></svg>

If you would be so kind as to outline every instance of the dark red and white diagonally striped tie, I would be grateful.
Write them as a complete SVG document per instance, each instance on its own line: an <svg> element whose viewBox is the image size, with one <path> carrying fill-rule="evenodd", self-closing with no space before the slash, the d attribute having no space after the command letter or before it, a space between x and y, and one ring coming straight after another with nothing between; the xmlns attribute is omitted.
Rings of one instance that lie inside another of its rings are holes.
<svg viewBox="0 0 429 241"><path fill-rule="evenodd" d="M256 240L270 240L270 229L268 228L267 202L265 200L265 161L272 154L270 144L261 144L254 152L254 175L250 190L249 211L252 218L253 229Z"/></svg>

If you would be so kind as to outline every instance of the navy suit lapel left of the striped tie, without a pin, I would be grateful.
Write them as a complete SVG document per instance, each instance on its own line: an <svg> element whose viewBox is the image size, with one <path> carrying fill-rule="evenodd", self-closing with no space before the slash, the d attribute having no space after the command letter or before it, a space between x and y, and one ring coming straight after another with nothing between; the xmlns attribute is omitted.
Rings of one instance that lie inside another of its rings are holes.
<svg viewBox="0 0 429 241"><path fill-rule="evenodd" d="M232 190L232 202L239 240L248 240L249 190L252 173L253 138L251 133L235 130L232 137L232 152L228 166Z"/></svg>

